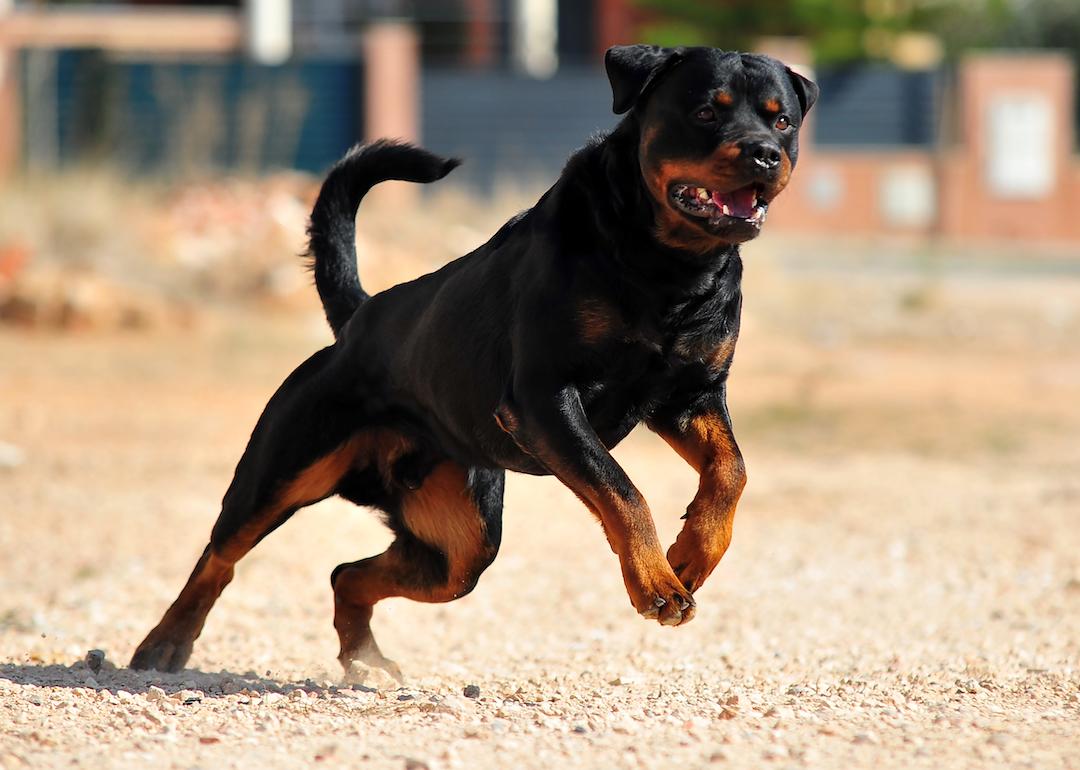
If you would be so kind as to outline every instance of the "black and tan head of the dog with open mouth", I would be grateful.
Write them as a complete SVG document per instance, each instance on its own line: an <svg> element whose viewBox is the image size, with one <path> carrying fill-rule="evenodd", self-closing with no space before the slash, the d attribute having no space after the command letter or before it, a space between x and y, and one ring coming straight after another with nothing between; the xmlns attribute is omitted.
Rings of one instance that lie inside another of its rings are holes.
<svg viewBox="0 0 1080 770"><path fill-rule="evenodd" d="M755 238L791 179L818 86L769 56L617 45L617 114L634 110L660 242L696 253Z"/></svg>

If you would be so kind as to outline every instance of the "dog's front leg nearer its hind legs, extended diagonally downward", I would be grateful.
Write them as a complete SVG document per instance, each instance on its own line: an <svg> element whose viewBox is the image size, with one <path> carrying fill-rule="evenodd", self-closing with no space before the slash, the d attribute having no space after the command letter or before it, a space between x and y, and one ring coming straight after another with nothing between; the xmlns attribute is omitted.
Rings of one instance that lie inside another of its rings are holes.
<svg viewBox="0 0 1080 770"><path fill-rule="evenodd" d="M599 518L634 608L663 625L690 620L693 597L664 557L649 506L589 424L577 389L532 386L505 398L496 417Z"/></svg>

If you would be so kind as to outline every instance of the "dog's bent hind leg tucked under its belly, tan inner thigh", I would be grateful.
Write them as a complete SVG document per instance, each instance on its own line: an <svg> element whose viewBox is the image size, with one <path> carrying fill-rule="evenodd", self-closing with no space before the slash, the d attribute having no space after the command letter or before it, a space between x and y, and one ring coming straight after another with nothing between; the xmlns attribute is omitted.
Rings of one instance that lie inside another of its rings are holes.
<svg viewBox="0 0 1080 770"><path fill-rule="evenodd" d="M334 626L347 678L361 678L363 666L372 665L401 679L372 635L377 602L391 596L453 602L472 591L499 550L504 475L449 461L436 464L419 488L387 505L396 535L390 548L334 570Z"/></svg>

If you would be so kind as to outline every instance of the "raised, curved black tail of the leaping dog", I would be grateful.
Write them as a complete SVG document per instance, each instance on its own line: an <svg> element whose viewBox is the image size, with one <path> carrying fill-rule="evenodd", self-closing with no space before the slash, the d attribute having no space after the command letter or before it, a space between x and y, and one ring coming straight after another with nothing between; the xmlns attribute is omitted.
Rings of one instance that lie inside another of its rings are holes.
<svg viewBox="0 0 1080 770"><path fill-rule="evenodd" d="M380 139L356 145L330 168L311 211L308 256L335 337L367 299L356 273L356 210L361 200L380 181L435 181L460 162L403 141Z"/></svg>

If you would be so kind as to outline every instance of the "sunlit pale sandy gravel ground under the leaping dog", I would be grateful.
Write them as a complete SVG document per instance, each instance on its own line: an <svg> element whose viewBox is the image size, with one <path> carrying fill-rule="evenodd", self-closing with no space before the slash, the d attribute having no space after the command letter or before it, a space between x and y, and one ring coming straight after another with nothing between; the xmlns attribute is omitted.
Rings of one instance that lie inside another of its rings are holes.
<svg viewBox="0 0 1080 770"><path fill-rule="evenodd" d="M340 681L328 576L388 537L339 500L241 563L191 668L124 667L314 308L0 329L0 768L1080 767L1080 280L755 248L751 481L693 622L637 618L580 503L513 476L475 592L376 610L404 687ZM692 473L616 454L670 542Z"/></svg>

